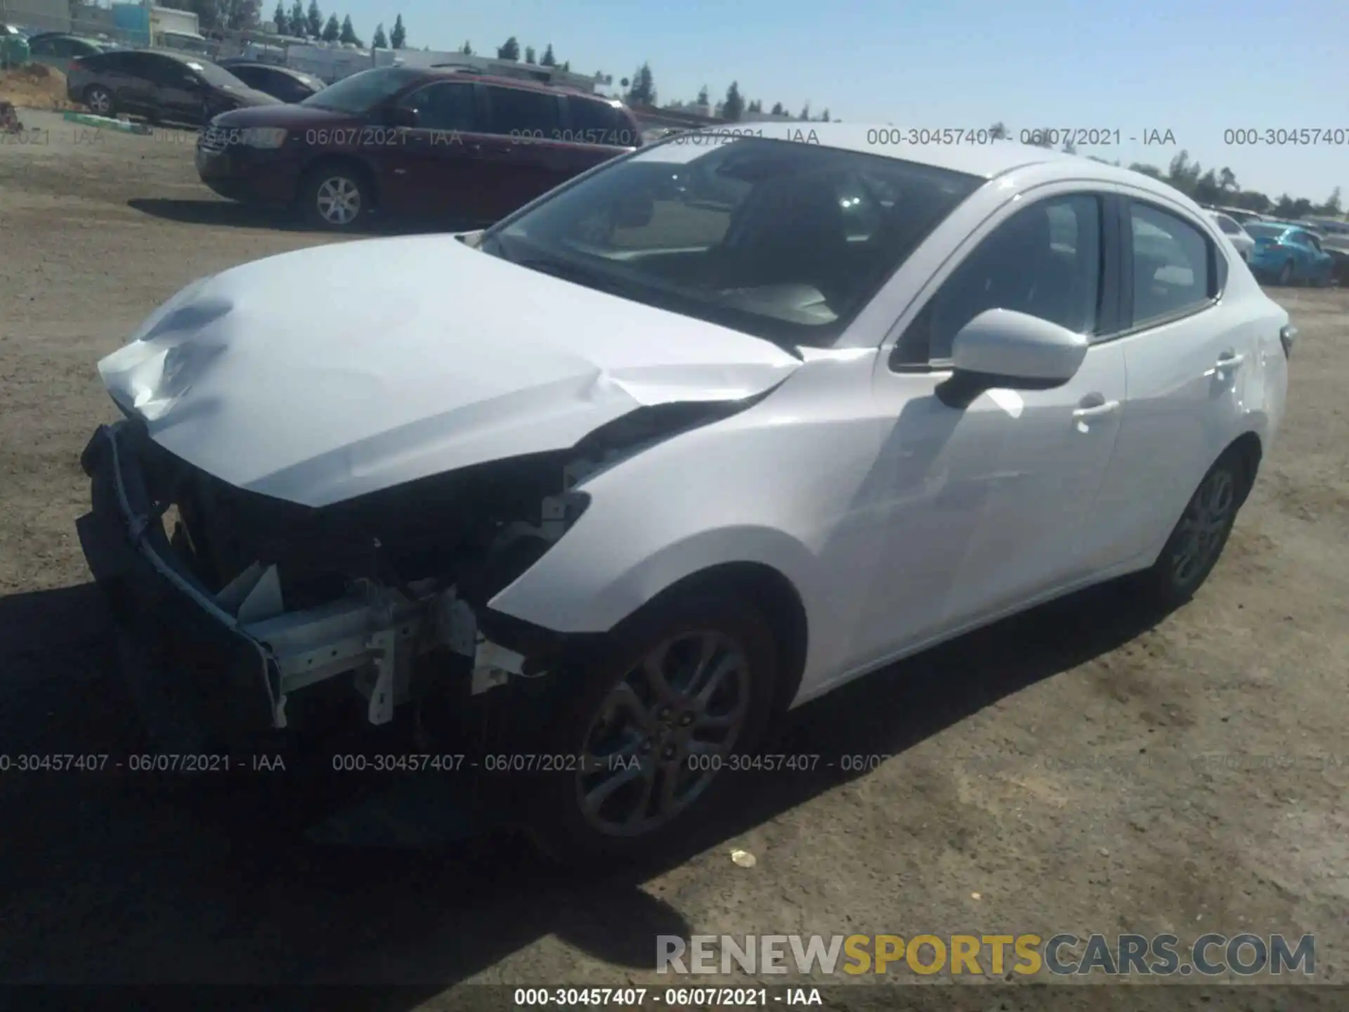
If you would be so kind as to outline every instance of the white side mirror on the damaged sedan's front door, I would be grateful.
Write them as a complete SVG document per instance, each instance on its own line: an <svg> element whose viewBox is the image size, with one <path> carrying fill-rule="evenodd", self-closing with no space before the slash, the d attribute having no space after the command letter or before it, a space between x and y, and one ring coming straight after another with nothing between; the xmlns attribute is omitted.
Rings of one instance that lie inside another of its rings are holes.
<svg viewBox="0 0 1349 1012"><path fill-rule="evenodd" d="M1085 335L1013 309L986 309L955 335L942 399L965 406L993 387L1052 390L1077 375L1086 355Z"/></svg>

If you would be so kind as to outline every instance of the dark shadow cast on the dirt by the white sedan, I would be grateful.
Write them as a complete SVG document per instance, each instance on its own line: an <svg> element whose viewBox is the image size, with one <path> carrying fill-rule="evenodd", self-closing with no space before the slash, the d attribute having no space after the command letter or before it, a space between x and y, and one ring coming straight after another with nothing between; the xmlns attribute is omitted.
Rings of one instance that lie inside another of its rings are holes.
<svg viewBox="0 0 1349 1012"><path fill-rule="evenodd" d="M1008 619L801 707L774 752L901 753L1153 625L1117 586ZM677 854L560 876L515 834L429 850L317 846L317 784L254 773L220 788L130 769L35 770L22 756L138 746L111 621L92 584L0 598L0 980L379 984L411 1008L557 935L650 969L654 936L697 931L656 873L858 776L742 775ZM69 764L69 760L66 760Z"/></svg>

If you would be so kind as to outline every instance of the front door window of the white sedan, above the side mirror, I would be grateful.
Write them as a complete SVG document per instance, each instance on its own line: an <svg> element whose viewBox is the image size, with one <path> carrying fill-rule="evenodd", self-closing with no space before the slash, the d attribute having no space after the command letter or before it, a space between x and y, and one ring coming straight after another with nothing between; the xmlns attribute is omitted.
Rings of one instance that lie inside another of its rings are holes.
<svg viewBox="0 0 1349 1012"><path fill-rule="evenodd" d="M955 335L989 309L1094 333L1101 302L1101 201L1051 197L1023 208L966 256L900 339L896 364L944 363Z"/></svg>

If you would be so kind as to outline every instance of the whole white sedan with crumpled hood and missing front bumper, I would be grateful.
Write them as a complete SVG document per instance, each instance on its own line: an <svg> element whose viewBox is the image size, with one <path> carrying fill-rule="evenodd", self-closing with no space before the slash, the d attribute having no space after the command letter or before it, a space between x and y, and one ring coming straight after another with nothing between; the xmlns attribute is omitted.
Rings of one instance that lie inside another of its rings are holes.
<svg viewBox="0 0 1349 1012"><path fill-rule="evenodd" d="M161 737L490 703L536 835L623 855L850 679L1128 573L1186 600L1294 339L1213 220L1041 148L774 130L224 271L104 359L78 526Z"/></svg>

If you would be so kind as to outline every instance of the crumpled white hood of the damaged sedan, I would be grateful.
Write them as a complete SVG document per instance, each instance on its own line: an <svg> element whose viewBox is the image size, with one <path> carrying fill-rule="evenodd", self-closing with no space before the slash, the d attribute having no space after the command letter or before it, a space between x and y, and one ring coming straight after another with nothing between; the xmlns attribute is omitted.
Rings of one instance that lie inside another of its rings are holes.
<svg viewBox="0 0 1349 1012"><path fill-rule="evenodd" d="M417 236L336 243L204 278L98 363L171 453L326 506L565 449L643 405L762 393L776 345Z"/></svg>

